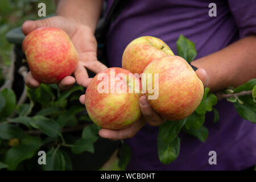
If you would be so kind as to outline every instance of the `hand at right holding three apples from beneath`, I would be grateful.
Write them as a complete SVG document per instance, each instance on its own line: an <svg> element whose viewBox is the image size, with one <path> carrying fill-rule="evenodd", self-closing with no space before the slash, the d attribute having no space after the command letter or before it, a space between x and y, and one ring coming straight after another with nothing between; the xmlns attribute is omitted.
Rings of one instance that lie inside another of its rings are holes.
<svg viewBox="0 0 256 182"><path fill-rule="evenodd" d="M200 68L196 71L197 76L203 82L204 86L208 85L209 78L204 69ZM82 104L85 103L85 95L80 97L80 102ZM139 98L139 105L142 111L142 117L131 124L129 127L121 130L109 130L109 129L101 129L99 131L99 135L102 138L108 138L111 140L121 140L126 138L133 137L146 123L151 126L159 126L166 121L166 119L162 118L159 113L157 113L148 103L146 96L141 96Z"/></svg>

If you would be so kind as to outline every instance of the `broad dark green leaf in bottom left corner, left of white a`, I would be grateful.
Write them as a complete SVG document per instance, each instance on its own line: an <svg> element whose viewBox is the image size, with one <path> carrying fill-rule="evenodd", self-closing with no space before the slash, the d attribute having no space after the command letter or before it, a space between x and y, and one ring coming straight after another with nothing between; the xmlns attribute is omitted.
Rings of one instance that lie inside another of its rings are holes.
<svg viewBox="0 0 256 182"><path fill-rule="evenodd" d="M20 162L32 158L36 150L38 150L38 148L35 146L27 146L24 144L10 148L5 156L5 163L9 166L8 169L14 170Z"/></svg>

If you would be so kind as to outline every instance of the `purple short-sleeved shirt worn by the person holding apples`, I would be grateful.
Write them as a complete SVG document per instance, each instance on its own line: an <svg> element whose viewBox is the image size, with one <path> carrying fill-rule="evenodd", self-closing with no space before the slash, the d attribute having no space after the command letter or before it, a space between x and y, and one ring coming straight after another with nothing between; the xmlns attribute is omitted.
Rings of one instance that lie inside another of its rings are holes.
<svg viewBox="0 0 256 182"><path fill-rule="evenodd" d="M109 9L113 1L107 2ZM216 17L208 15L208 5L212 2L217 5ZM196 44L196 59L219 51L238 39L256 34L256 2L131 0L110 27L109 64L121 67L127 44L145 35L162 39L177 55L176 41L180 34ZM127 169L239 170L256 164L256 125L242 119L230 102L219 101L215 108L220 113L220 121L213 123L213 113L206 115L204 126L209 130L206 142L181 133L180 154L168 165L158 159L156 137L159 127L144 126L135 137L125 140L132 150ZM217 152L216 165L208 163L208 152L212 150Z"/></svg>

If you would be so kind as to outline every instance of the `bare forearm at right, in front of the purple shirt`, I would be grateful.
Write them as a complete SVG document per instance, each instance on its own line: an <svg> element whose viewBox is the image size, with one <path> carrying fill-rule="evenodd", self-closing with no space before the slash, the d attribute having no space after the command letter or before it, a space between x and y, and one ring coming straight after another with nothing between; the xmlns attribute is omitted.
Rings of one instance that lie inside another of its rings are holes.
<svg viewBox="0 0 256 182"><path fill-rule="evenodd" d="M192 62L204 68L209 77L208 87L214 92L239 86L256 78L256 36L238 40L221 51Z"/></svg>

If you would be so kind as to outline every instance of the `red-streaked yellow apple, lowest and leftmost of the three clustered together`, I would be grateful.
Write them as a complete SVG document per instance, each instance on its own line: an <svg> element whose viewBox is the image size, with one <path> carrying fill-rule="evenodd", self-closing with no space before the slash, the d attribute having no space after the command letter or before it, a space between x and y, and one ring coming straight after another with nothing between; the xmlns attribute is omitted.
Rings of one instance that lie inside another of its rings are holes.
<svg viewBox="0 0 256 182"><path fill-rule="evenodd" d="M141 117L141 81L123 68L98 73L85 92L89 117L105 129L123 129Z"/></svg>

